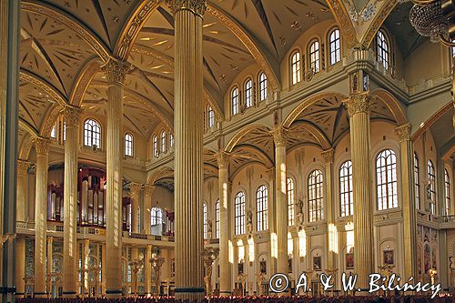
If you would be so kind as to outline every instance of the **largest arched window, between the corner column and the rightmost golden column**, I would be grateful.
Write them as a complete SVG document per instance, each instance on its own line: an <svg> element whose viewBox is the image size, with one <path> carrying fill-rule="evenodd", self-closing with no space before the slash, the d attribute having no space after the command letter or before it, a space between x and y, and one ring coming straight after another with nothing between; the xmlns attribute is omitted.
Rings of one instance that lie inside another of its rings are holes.
<svg viewBox="0 0 455 303"><path fill-rule="evenodd" d="M378 210L398 207L397 157L391 149L376 157Z"/></svg>

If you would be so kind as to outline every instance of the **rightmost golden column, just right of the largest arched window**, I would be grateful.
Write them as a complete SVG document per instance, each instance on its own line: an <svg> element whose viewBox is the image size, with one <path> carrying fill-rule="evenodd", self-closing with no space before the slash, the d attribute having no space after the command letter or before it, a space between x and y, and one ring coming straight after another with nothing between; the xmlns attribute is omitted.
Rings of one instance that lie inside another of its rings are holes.
<svg viewBox="0 0 455 303"><path fill-rule="evenodd" d="M404 276L414 277L417 273L416 229L417 213L414 193L414 151L410 140L410 124L398 126L395 133L399 137L399 155L401 167L401 192L403 195L403 236Z"/></svg>

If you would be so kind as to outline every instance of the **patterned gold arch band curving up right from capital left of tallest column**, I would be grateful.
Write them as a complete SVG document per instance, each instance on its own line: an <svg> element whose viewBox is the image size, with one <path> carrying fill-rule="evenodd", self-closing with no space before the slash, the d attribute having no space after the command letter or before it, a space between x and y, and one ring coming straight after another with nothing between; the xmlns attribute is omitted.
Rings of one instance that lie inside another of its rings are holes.
<svg viewBox="0 0 455 303"><path fill-rule="evenodd" d="M122 34L116 44L116 57L126 59L129 56L129 52L136 41L136 37L139 34L143 25L145 25L148 16L152 15L157 10L160 2L157 0L148 0L141 3L136 8L134 15L128 20L128 23L122 30Z"/></svg>

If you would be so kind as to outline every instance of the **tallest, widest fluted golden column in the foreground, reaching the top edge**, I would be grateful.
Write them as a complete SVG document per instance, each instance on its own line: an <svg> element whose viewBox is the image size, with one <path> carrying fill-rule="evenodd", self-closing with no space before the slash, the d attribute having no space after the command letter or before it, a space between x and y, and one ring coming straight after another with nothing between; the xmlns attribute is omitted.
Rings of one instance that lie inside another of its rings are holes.
<svg viewBox="0 0 455 303"><path fill-rule="evenodd" d="M203 66L205 0L167 0L175 15L176 298L204 298Z"/></svg>

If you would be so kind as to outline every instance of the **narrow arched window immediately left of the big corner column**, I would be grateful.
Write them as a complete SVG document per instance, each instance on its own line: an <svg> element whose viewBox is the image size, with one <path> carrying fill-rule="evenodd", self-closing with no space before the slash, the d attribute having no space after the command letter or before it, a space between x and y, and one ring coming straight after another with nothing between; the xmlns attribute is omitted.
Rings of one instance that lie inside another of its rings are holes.
<svg viewBox="0 0 455 303"><path fill-rule="evenodd" d="M344 162L339 167L339 204L341 217L352 216L354 214L354 204L352 198L352 162Z"/></svg>

